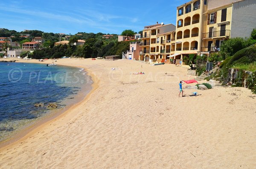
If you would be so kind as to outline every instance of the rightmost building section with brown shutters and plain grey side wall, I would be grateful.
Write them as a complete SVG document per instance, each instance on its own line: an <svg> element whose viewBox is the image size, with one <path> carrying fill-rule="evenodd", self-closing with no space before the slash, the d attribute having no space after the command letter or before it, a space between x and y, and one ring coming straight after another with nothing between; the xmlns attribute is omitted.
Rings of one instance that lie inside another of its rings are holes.
<svg viewBox="0 0 256 169"><path fill-rule="evenodd" d="M209 0L204 15L201 52L218 52L231 37L250 37L256 26L255 0Z"/></svg>

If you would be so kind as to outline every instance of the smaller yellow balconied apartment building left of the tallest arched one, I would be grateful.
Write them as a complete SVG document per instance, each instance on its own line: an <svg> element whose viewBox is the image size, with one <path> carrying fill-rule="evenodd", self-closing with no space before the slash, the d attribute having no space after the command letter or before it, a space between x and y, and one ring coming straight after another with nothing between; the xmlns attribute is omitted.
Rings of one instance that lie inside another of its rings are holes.
<svg viewBox="0 0 256 169"><path fill-rule="evenodd" d="M174 43L175 26L173 24L156 24L145 26L140 46L140 60L155 62L157 59L166 59L171 53L171 41ZM169 44L167 45L166 42ZM174 52L174 49L173 49Z"/></svg>

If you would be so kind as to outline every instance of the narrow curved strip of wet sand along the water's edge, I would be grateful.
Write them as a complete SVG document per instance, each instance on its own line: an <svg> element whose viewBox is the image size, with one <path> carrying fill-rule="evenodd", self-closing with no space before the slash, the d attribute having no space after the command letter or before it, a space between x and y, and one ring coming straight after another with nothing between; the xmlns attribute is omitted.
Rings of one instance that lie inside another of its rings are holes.
<svg viewBox="0 0 256 169"><path fill-rule="evenodd" d="M52 61L52 60L49 60L49 61ZM21 60L21 59L16 60L16 62L17 63L31 63L31 62L27 62L26 60ZM37 62L35 62L35 59L33 59L32 64L35 64L35 63L37 63ZM39 62L38 64L44 64L44 63ZM58 64L58 65L66 66L66 65L62 65L62 64ZM47 115L47 117L41 117L41 119L38 119L37 121L32 122L32 124L28 124L28 125L24 126L24 128L20 129L20 131L18 131L18 133L15 133L14 135L12 134L12 136L1 141L0 142L0 151L2 149L6 149L6 147L12 146L13 144L15 144L17 142L25 140L33 133L40 131L40 129L43 126L46 126L47 124L51 123L52 121L58 120L58 118L61 118L64 115L68 114L68 112L70 112L71 109L74 109L74 108L78 107L79 105L81 105L82 103L85 103L86 100L88 99L88 97L91 95L91 93L98 88L98 84L94 82L95 80L97 80L97 78L90 72L90 70L88 70L85 67L80 67L80 66L79 67L67 66L67 67L84 69L83 71L86 72L87 76L89 76L90 80L92 80L92 84L90 85L92 87L92 89L81 100L79 98L76 98L79 101L78 102L76 101L73 106L69 105L67 107L65 106L65 108L63 108L63 109L52 110L50 115ZM86 86L84 86L83 88L86 88ZM82 90L80 92L82 92ZM76 95L79 95L79 93L77 93Z"/></svg>

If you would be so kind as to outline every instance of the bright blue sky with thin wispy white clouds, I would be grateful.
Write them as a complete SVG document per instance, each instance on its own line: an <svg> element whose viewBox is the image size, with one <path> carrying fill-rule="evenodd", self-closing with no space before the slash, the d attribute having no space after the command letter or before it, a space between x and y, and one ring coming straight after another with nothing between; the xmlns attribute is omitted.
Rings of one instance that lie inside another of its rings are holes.
<svg viewBox="0 0 256 169"><path fill-rule="evenodd" d="M0 28L76 34L139 32L158 23L176 25L189 0L0 0Z"/></svg>

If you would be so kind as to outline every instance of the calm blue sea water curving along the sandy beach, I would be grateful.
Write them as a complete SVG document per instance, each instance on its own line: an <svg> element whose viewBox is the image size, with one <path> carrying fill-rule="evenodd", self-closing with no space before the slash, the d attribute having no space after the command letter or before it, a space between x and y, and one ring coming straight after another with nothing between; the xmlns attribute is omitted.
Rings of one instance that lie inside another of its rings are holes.
<svg viewBox="0 0 256 169"><path fill-rule="evenodd" d="M81 68L0 62L0 142L81 101L92 83Z"/></svg>

